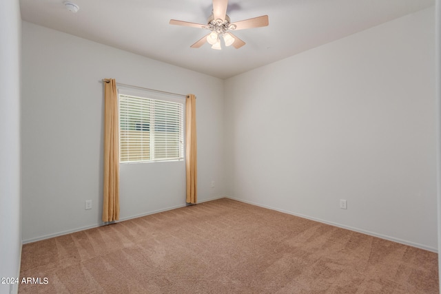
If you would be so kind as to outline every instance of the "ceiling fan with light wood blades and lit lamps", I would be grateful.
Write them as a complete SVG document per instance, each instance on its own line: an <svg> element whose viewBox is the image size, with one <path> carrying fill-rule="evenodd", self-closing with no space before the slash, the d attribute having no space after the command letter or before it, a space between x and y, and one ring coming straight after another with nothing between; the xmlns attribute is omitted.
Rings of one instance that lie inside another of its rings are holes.
<svg viewBox="0 0 441 294"><path fill-rule="evenodd" d="M197 41L190 47L200 48L202 45L208 42L210 45L212 45L212 48L216 50L222 49L220 46L220 36L223 37L223 41L226 46L233 45L234 48L238 49L245 45L245 42L232 34L233 30L260 28L269 24L267 15L231 23L227 15L227 6L228 0L213 0L212 15L208 17L206 25L201 23L189 23L187 21L176 21L175 19L171 19L170 24L210 30L211 32L209 32L209 34L203 36L201 40Z"/></svg>

